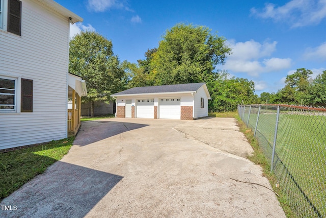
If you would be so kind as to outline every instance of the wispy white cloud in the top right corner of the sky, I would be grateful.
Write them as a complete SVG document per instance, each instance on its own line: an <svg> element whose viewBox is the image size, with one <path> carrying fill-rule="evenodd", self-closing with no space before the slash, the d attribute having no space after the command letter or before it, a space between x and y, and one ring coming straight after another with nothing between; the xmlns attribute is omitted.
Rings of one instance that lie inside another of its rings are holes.
<svg viewBox="0 0 326 218"><path fill-rule="evenodd" d="M317 25L326 17L326 0L292 0L283 6L266 4L262 10L252 8L251 14L288 22L292 28Z"/></svg>

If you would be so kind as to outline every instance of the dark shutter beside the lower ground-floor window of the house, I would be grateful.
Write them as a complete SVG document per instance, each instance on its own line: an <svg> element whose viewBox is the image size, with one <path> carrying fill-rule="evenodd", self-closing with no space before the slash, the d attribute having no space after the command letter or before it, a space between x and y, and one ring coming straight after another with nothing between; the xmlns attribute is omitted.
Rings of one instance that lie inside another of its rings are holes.
<svg viewBox="0 0 326 218"><path fill-rule="evenodd" d="M21 112L33 112L33 80L21 79Z"/></svg>

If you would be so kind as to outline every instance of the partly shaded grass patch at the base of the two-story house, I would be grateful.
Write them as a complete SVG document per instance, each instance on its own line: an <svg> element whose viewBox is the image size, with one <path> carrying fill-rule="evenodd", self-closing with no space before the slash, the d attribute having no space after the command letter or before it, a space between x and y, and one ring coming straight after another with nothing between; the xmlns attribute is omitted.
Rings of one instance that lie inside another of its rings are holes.
<svg viewBox="0 0 326 218"><path fill-rule="evenodd" d="M66 155L74 137L0 153L0 201Z"/></svg>

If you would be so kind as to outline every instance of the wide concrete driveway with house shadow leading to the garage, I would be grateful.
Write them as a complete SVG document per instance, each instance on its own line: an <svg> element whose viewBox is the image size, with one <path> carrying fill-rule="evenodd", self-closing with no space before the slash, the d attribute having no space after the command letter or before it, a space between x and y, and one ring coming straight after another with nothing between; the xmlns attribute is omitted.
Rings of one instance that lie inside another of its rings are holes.
<svg viewBox="0 0 326 218"><path fill-rule="evenodd" d="M83 122L0 217L285 217L233 118Z"/></svg>

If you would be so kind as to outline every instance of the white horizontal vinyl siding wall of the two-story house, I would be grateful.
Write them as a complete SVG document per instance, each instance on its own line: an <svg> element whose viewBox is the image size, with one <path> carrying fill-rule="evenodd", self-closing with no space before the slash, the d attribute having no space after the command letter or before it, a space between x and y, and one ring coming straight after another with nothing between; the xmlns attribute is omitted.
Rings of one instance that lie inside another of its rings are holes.
<svg viewBox="0 0 326 218"><path fill-rule="evenodd" d="M0 74L34 81L33 112L0 112L0 149L67 137L68 28L62 15L23 0L21 36L0 31Z"/></svg>

